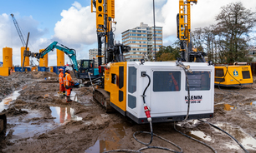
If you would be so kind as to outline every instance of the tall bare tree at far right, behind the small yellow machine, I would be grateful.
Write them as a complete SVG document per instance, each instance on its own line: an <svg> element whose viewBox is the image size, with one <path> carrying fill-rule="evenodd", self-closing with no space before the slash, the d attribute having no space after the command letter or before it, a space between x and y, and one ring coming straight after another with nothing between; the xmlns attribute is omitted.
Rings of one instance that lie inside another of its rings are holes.
<svg viewBox="0 0 256 153"><path fill-rule="evenodd" d="M222 7L216 20L218 44L222 45L221 55L225 56L223 61L231 63L248 60L249 33L256 23L255 12L243 7L242 2L232 2Z"/></svg>

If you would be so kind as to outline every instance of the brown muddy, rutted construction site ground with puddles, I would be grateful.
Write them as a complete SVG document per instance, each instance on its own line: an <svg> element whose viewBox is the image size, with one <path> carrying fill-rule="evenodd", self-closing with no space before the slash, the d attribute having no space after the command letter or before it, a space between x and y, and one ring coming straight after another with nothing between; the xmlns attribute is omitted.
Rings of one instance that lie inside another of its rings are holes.
<svg viewBox="0 0 256 153"><path fill-rule="evenodd" d="M120 113L106 114L93 100L92 89L88 87L74 89L73 94L79 101L66 103L57 94L57 80L58 76L51 72L15 72L10 77L0 77L0 100L3 100L0 112L8 116L8 129L0 137L0 152L99 153L144 147L133 138L133 133L150 131L149 125L137 125ZM250 153L256 152L255 91L253 86L240 90L238 87L223 90L216 87L214 117L205 120L227 131ZM173 122L155 123L153 131L180 146L184 153L213 152L182 136L173 126ZM177 130L203 141L217 152L244 152L229 136L201 121L178 122ZM149 135L140 134L137 138L150 141ZM151 146L180 151L156 136Z"/></svg>

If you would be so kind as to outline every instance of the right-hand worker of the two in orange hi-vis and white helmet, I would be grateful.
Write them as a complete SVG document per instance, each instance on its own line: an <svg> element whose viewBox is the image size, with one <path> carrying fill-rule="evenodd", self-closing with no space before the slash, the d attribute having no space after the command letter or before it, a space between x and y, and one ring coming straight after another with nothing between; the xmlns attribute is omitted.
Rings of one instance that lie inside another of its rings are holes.
<svg viewBox="0 0 256 153"><path fill-rule="evenodd" d="M71 91L72 91L72 86L74 86L74 81L72 80L72 77L70 75L70 70L71 67L67 67L66 68L66 72L65 72L65 77L64 77L64 86L66 88L66 91L67 91L67 102L70 102L71 99L70 99L70 94L71 94Z"/></svg>

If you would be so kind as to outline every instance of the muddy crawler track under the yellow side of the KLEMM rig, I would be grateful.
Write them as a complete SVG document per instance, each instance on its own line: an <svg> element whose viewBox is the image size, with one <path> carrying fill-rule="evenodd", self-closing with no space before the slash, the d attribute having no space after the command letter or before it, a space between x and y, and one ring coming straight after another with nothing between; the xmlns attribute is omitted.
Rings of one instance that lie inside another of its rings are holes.
<svg viewBox="0 0 256 153"><path fill-rule="evenodd" d="M110 106L110 93L104 89L95 89L94 99L105 107L105 112L109 113L115 111L115 109Z"/></svg>

